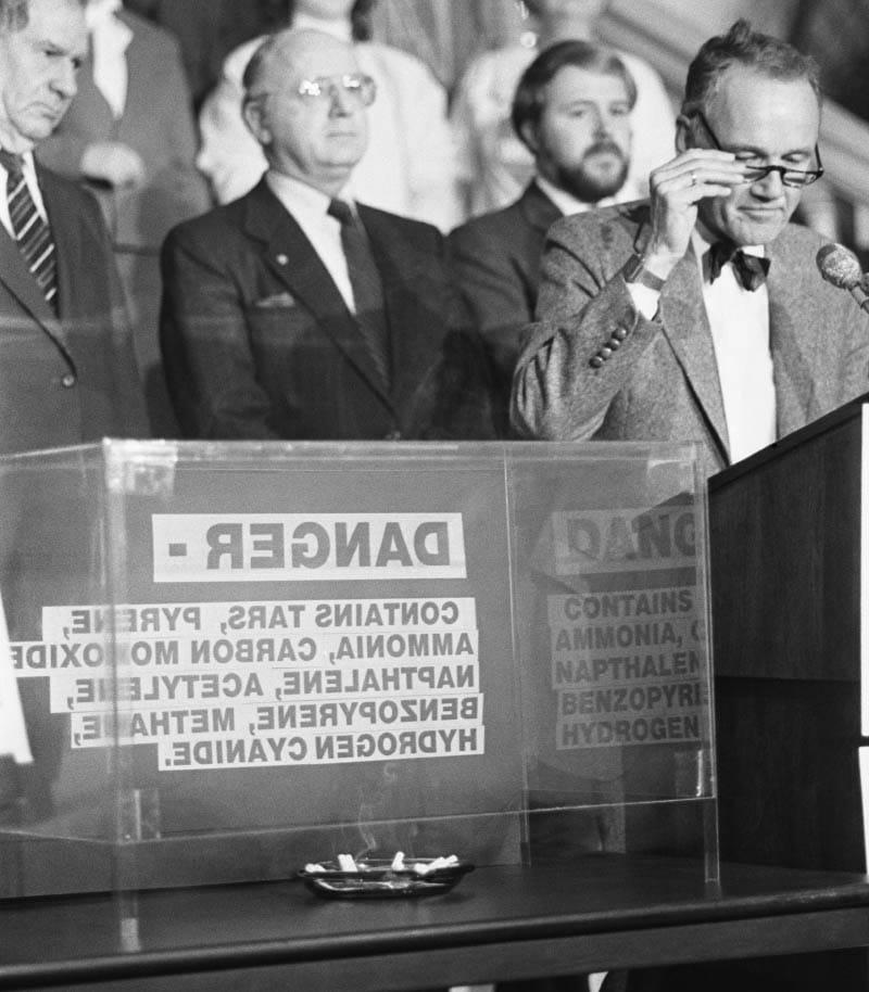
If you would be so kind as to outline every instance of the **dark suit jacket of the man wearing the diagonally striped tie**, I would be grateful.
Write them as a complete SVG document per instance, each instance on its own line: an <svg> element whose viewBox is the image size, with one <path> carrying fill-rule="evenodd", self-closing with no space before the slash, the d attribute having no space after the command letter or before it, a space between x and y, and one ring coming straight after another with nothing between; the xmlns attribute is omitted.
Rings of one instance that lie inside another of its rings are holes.
<svg viewBox="0 0 869 992"><path fill-rule="evenodd" d="M144 412L111 245L93 199L47 169L55 317L0 227L0 452L137 436Z"/></svg>

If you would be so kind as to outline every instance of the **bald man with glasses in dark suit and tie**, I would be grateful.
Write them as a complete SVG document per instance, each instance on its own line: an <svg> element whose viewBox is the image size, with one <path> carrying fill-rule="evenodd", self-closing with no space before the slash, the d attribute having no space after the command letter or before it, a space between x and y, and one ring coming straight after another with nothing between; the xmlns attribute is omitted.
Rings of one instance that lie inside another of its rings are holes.
<svg viewBox="0 0 869 992"><path fill-rule="evenodd" d="M161 347L181 431L413 435L458 304L437 229L349 193L376 86L351 44L286 30L253 55L244 91L268 170L163 249Z"/></svg>

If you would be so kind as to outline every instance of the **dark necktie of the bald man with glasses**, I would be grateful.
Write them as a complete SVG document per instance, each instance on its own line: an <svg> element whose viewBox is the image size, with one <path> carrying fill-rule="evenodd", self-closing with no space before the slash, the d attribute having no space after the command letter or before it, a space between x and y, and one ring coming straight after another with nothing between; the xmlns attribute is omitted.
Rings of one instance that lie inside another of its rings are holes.
<svg viewBox="0 0 869 992"><path fill-rule="evenodd" d="M341 225L341 247L344 250L350 284L353 288L356 323L381 384L389 390L389 328L383 307L383 287L368 245L368 238L353 211L343 200L332 200L327 213Z"/></svg>

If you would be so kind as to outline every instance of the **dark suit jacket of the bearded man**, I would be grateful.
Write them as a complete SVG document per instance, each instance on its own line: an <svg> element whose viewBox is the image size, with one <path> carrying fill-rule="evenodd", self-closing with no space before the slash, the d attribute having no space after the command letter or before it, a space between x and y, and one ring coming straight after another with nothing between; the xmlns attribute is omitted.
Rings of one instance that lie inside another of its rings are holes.
<svg viewBox="0 0 869 992"><path fill-rule="evenodd" d="M562 216L531 182L515 203L475 217L450 234L458 290L504 376L513 376L519 336L534 319L543 243Z"/></svg>

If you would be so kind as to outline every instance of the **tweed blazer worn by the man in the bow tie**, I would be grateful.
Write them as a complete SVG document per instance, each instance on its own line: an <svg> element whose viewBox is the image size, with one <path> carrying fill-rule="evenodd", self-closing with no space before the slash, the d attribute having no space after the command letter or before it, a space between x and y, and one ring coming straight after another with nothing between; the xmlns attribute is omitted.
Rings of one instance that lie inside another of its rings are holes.
<svg viewBox="0 0 869 992"><path fill-rule="evenodd" d="M550 440L697 441L711 474L730 454L700 267L689 249L647 320L620 269L650 236L646 201L551 229L538 322L526 331L513 383L514 428ZM822 243L788 225L766 246L779 437L869 389L869 316L821 279ZM595 368L592 358L620 329L624 342Z"/></svg>

